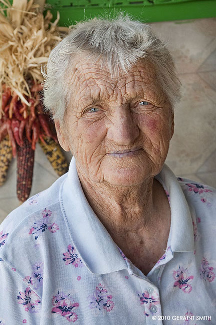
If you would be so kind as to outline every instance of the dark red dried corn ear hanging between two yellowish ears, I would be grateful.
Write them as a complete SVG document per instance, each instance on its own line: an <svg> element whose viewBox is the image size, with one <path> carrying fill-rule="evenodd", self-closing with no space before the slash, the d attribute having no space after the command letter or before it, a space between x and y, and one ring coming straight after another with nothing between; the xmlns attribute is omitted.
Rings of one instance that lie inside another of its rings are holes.
<svg viewBox="0 0 216 325"><path fill-rule="evenodd" d="M17 197L21 202L28 199L32 188L35 150L24 137L24 145L17 149Z"/></svg>

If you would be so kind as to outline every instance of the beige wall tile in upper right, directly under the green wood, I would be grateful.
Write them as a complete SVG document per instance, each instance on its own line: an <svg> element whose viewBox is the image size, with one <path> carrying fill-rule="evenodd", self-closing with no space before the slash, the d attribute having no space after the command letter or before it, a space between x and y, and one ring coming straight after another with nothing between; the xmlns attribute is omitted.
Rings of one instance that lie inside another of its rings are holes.
<svg viewBox="0 0 216 325"><path fill-rule="evenodd" d="M216 19L159 22L151 24L161 40L168 41L177 71L195 72L216 49Z"/></svg>

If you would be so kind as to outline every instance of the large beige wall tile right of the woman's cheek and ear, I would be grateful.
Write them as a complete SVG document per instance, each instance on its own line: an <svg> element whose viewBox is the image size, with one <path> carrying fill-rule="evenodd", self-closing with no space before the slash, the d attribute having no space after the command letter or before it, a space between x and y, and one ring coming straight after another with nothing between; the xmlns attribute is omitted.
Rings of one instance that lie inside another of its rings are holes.
<svg viewBox="0 0 216 325"><path fill-rule="evenodd" d="M196 74L185 74L182 100L175 110L175 131L170 143L167 164L177 175L195 174L214 150L215 107L205 95L209 87Z"/></svg>

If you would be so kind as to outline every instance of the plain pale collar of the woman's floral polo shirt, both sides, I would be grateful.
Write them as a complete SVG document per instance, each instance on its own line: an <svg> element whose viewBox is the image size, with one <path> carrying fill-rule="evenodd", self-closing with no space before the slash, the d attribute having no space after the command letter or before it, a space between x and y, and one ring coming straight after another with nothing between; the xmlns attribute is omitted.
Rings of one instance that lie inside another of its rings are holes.
<svg viewBox="0 0 216 325"><path fill-rule="evenodd" d="M171 170L164 165L158 175L170 194L171 249L190 251L193 228L187 202ZM128 268L112 237L89 205L82 190L72 157L69 172L60 188L61 209L80 258L94 274L106 274Z"/></svg>

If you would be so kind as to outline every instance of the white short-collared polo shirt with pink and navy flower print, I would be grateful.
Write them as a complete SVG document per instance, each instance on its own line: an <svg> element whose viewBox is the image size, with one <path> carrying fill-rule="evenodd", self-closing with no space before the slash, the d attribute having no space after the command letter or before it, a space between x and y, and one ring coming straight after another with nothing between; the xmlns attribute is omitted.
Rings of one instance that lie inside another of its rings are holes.
<svg viewBox="0 0 216 325"><path fill-rule="evenodd" d="M147 276L91 209L74 158L10 213L0 225L0 324L216 324L215 191L176 179L166 165L156 179L171 226Z"/></svg>

